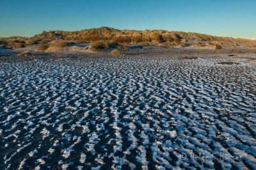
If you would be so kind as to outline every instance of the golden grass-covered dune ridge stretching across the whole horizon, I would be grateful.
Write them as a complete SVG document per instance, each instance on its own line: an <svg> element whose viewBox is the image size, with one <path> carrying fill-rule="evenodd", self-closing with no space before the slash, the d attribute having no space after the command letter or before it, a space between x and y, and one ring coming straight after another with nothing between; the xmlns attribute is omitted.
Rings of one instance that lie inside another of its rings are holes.
<svg viewBox="0 0 256 170"><path fill-rule="evenodd" d="M256 47L256 40L243 38L230 38L204 35L200 33L185 33L181 31L164 31L164 30L118 30L111 27L100 27L93 29L84 29L81 31L43 31L33 37L12 36L10 38L0 38L0 47L21 48L35 44L47 44L54 40L83 42L111 42L118 44L154 44L161 47L205 47L209 45L230 45L237 47ZM56 42L55 42L56 43ZM50 45L54 43L50 43ZM68 43L59 43L61 47Z"/></svg>

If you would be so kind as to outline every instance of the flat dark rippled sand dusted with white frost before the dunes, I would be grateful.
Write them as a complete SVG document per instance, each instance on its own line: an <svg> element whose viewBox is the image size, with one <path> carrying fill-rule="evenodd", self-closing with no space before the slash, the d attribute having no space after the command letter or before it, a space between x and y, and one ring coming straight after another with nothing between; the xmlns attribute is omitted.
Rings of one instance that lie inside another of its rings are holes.
<svg viewBox="0 0 256 170"><path fill-rule="evenodd" d="M0 169L256 169L255 57L2 52Z"/></svg>

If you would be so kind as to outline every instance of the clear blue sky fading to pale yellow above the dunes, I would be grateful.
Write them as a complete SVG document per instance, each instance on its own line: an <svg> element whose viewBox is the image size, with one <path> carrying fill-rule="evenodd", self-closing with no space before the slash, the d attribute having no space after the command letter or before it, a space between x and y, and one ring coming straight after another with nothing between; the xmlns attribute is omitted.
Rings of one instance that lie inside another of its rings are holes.
<svg viewBox="0 0 256 170"><path fill-rule="evenodd" d="M101 26L256 39L256 0L0 0L0 37Z"/></svg>

